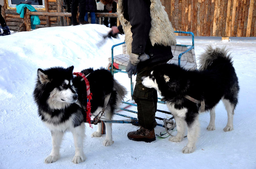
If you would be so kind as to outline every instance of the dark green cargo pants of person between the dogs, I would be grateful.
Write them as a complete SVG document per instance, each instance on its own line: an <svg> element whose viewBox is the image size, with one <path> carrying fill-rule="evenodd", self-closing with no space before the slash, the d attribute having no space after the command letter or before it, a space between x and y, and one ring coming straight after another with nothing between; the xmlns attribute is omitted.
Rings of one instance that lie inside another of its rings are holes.
<svg viewBox="0 0 256 169"><path fill-rule="evenodd" d="M146 88L141 83L141 77L148 76L152 67L145 67L137 73L133 99L137 103L138 120L142 127L152 130L156 127L157 91Z"/></svg>

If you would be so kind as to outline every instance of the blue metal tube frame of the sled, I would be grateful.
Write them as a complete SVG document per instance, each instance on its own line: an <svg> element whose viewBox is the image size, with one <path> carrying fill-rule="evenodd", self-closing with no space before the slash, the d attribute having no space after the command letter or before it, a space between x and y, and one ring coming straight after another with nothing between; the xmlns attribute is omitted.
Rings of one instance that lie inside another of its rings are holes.
<svg viewBox="0 0 256 169"><path fill-rule="evenodd" d="M174 33L184 33L184 34L190 34L190 35L192 36L192 45L176 44L176 46L189 47L186 51L180 53L180 55L179 55L179 57L178 57L178 65L180 66L180 58L181 58L181 56L182 56L184 53L187 53L188 51L194 49L194 47L195 47L195 44L194 44L194 33L193 33L193 32L183 32L183 31L174 31ZM111 58L112 58L112 62L111 62L111 73L112 73L113 76L114 76L114 73L117 73L117 72L127 73L126 71L123 71L123 70L120 70L120 69L116 69L116 68L114 67L114 65L113 65L113 62L114 62L114 52L113 52L113 51L114 51L114 47L119 46L119 45L122 45L122 44L124 44L124 43L125 43L125 42L122 42L122 43L113 45L113 46L111 47ZM131 78L131 97L132 97L132 95L133 95L133 82L132 82L132 78ZM122 102L122 103L127 104L127 105L137 106L137 104L133 104L133 103L129 103L129 102ZM158 103L166 104L166 102L161 101L161 98L158 98ZM132 113L138 114L138 112L132 111L132 110L129 110L129 109L121 108L121 110L125 110L125 111L128 111L128 112L132 112ZM156 111L171 115L171 113L168 112L168 111L159 110L159 109L157 109ZM118 121L118 120L112 120L112 121L104 121L104 122L105 122L105 123L132 123L132 124L138 124L138 119L137 119L137 118L134 118L134 117L131 117L131 116L126 116L126 115L119 114L119 113L115 113L115 114L118 115L118 116L123 116L123 117L130 118L130 119L132 119L132 121ZM172 118L173 118L173 117L172 117ZM172 118L171 118L171 119L172 119ZM161 118L161 117L156 117L156 119L163 120L163 118ZM157 123L157 125L158 125L158 126L161 126L161 127L164 127L163 124Z"/></svg>

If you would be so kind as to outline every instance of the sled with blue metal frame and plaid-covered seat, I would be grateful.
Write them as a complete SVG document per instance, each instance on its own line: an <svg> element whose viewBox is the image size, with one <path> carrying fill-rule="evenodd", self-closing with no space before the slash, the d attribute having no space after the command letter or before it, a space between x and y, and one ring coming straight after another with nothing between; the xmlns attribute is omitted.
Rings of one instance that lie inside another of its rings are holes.
<svg viewBox="0 0 256 169"><path fill-rule="evenodd" d="M182 31L174 31L174 32L191 35L191 38L192 38L191 45L176 44L176 46L172 46L173 58L171 60L169 60L167 63L174 63L174 64L177 64L180 67L184 67L188 70L195 70L197 68L197 65L196 65L196 55L195 55L195 51L194 51L194 33L193 32L182 32ZM114 48L116 46L120 46L120 45L123 45L123 53L114 56ZM109 64L108 64L108 69L111 71L113 76L114 76L115 73L125 73L125 74L127 74L127 72L125 71L125 68L128 65L129 55L126 52L125 42L113 45L111 47L111 57L108 58L108 60L110 61ZM123 101L122 102L123 104L121 106L121 110L137 114L138 113L137 111L127 109L127 107L130 107L130 106L137 107L137 104L132 99L132 95L133 95L133 81L132 81L132 78L131 78L130 83L131 83L130 84L131 99L128 100L128 101ZM166 104L166 102L161 101L161 98L158 98L158 103ZM157 112L161 112L161 113L164 113L164 114L167 114L167 115L172 115L170 112L164 111L164 110L161 110L161 109L157 109ZM106 121L104 121L104 123L132 123L132 124L138 124L138 119L135 118L135 117L120 114L118 112L115 113L115 114L118 115L118 116L123 116L123 117L129 118L130 120L128 120L128 121L126 121L126 120L123 120L123 121L122 120L110 120L110 121L106 120ZM169 119L166 119L166 118L156 116L156 119L158 119L160 121L163 121L163 123L161 123L161 124L157 123L157 126L165 127L167 132L168 132L168 130L173 130L173 128L175 127L175 124L172 121L173 117L171 117ZM162 134L162 135L164 135L164 134Z"/></svg>

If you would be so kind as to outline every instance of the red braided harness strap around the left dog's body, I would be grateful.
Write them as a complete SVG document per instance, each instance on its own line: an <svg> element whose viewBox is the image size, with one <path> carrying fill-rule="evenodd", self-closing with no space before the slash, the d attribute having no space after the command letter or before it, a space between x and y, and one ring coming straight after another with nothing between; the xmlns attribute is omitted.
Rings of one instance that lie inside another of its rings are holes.
<svg viewBox="0 0 256 169"><path fill-rule="evenodd" d="M90 84L88 79L85 77L85 75L83 73L80 72L74 72L73 73L76 76L80 76L84 79L85 84L86 84L86 94L87 94L87 105L86 105L86 122L89 123L90 127L92 128L92 124L91 124L91 99L92 99L92 93L90 92Z"/></svg>

